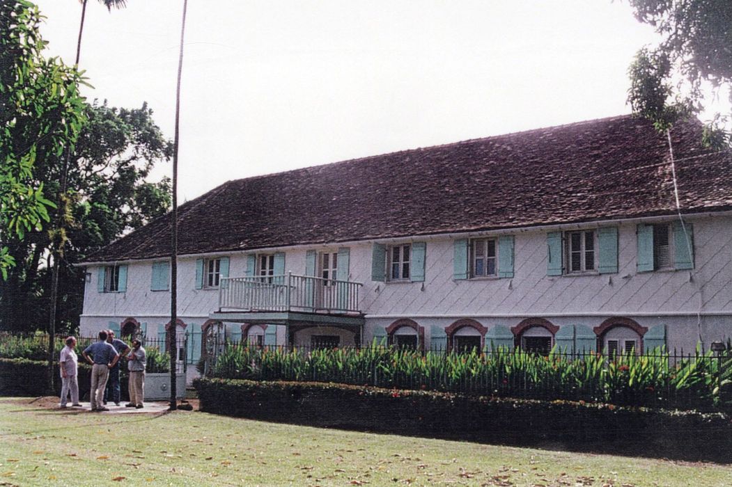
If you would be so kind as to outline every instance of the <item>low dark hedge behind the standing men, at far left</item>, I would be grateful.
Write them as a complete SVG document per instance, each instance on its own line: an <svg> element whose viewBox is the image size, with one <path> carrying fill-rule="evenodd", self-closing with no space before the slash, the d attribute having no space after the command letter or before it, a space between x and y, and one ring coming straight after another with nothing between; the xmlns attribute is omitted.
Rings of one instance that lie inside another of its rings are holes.
<svg viewBox="0 0 732 487"><path fill-rule="evenodd" d="M59 364L53 364L53 385L56 395L61 394ZM79 397L89 393L91 366L79 363ZM0 358L0 396L46 396L48 387L48 362L26 358Z"/></svg>

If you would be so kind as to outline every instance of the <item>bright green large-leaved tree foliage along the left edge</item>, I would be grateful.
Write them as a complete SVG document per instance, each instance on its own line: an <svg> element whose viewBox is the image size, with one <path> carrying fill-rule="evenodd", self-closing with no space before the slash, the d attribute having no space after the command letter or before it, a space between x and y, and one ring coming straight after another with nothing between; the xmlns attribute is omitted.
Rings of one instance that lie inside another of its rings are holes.
<svg viewBox="0 0 732 487"><path fill-rule="evenodd" d="M59 160L84 121L80 73L59 58L45 58L42 17L26 0L0 2L0 272L18 262L7 246L49 221L37 165Z"/></svg>

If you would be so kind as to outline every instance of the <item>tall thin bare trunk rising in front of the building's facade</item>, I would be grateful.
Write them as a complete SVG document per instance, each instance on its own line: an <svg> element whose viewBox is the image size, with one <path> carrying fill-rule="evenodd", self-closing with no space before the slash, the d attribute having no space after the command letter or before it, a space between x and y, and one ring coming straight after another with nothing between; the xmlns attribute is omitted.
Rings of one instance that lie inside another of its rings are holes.
<svg viewBox="0 0 732 487"><path fill-rule="evenodd" d="M178 347L176 344L176 326L178 322L178 148L179 148L179 127L181 113L181 78L183 72L183 39L185 34L185 15L188 7L188 0L183 0L183 18L181 20L181 42L178 54L178 80L176 84L176 124L175 137L173 139L173 211L171 212L171 406L170 409L178 409L176 403L176 361ZM185 360L185 358L183 358Z"/></svg>

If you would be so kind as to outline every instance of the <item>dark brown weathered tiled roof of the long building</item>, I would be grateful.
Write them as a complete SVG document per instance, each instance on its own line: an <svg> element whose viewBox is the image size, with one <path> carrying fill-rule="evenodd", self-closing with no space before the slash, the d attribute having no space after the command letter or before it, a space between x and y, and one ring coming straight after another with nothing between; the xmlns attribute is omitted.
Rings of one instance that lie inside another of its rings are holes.
<svg viewBox="0 0 732 487"><path fill-rule="evenodd" d="M686 212L732 208L732 156L672 132ZM632 116L228 181L179 208L179 254L673 214L666 139ZM89 262L170 253L170 214Z"/></svg>

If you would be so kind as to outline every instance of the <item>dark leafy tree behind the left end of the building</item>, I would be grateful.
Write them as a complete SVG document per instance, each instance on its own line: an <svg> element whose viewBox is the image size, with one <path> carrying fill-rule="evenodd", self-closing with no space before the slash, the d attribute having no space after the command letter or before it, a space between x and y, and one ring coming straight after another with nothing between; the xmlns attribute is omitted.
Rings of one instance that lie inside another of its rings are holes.
<svg viewBox="0 0 732 487"><path fill-rule="evenodd" d="M149 182L155 164L168 161L172 144L154 123L147 105L127 109L94 102L70 155L67 245L59 268L57 327L78 326L83 305L83 271L72 267L86 255L168 211L170 180ZM59 195L59 164L38 164L37 177L51 199ZM46 260L53 232L34 231L10 241L18 262L0 283L0 328L34 329L48 322L51 269Z"/></svg>

